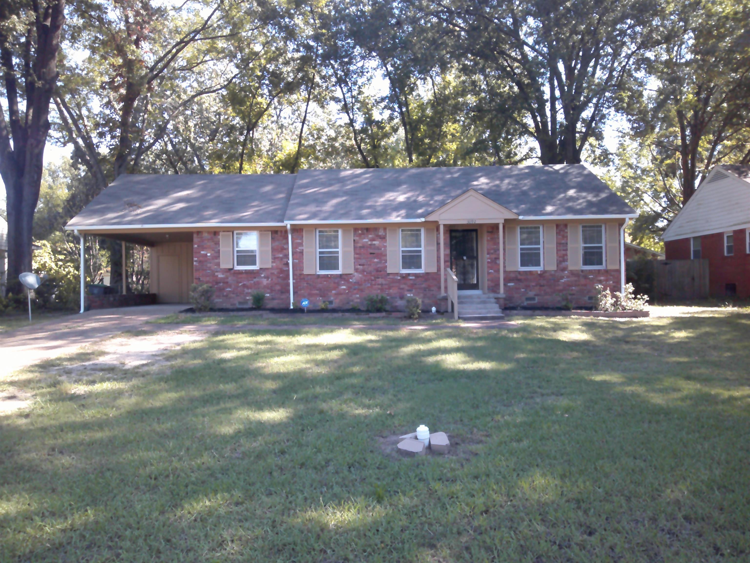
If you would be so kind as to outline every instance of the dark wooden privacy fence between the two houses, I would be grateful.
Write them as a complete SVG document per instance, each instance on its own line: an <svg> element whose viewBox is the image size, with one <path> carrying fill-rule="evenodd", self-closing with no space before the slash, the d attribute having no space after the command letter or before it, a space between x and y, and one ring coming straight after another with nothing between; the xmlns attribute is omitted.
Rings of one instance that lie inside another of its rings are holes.
<svg viewBox="0 0 750 563"><path fill-rule="evenodd" d="M649 260L654 268L655 300L706 299L708 260Z"/></svg>

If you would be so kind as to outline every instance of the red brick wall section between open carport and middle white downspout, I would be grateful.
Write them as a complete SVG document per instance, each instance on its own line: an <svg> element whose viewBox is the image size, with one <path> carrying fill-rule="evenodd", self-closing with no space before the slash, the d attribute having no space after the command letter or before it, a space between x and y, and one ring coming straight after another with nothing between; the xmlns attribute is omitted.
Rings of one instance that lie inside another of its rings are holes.
<svg viewBox="0 0 750 563"><path fill-rule="evenodd" d="M252 306L254 291L266 292L266 307L289 307L289 252L287 230L271 232L272 267L221 269L219 233L193 233L193 277L196 284L214 286L215 306L222 309Z"/></svg>

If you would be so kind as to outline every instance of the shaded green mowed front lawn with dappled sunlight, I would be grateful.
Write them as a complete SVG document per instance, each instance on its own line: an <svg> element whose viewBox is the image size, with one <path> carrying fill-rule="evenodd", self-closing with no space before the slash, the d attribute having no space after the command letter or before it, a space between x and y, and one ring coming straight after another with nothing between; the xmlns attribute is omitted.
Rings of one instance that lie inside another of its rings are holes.
<svg viewBox="0 0 750 563"><path fill-rule="evenodd" d="M750 315L520 322L28 372L37 401L0 418L0 558L747 561ZM383 454L419 423L459 455Z"/></svg>

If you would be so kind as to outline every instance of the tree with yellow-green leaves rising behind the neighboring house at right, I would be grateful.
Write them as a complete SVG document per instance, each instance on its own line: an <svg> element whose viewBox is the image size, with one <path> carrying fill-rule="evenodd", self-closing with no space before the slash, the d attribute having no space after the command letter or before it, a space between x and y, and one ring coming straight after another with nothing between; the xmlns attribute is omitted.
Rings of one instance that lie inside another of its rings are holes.
<svg viewBox="0 0 750 563"><path fill-rule="evenodd" d="M685 205L716 164L750 163L750 2L684 2L671 41L649 53L647 89L629 116L649 167ZM666 192L665 192L666 193Z"/></svg>

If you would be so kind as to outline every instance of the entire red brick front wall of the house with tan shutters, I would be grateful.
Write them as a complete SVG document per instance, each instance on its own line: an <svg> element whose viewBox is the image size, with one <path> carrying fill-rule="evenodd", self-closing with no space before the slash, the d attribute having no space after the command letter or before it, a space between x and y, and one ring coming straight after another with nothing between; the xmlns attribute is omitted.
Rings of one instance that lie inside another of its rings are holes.
<svg viewBox="0 0 750 563"><path fill-rule="evenodd" d="M437 227L436 227L437 229ZM485 227L487 235L487 291L499 292L499 237L497 225ZM445 265L449 266L449 227L445 227ZM505 272L505 306L524 306L526 297L537 297L533 306L561 306L565 296L576 306L590 306L587 297L594 294L594 285L601 283L619 291L619 269L581 270L568 272L568 229L558 224L557 270L541 272ZM386 294L392 308L403 309L407 297L422 299L422 306L443 309L440 296L440 257L438 272L389 274L386 272L386 227L354 229L353 274L304 274L301 228L292 230L294 298L297 303L309 299L311 307L332 301L334 309L352 306L364 308L365 297ZM266 292L266 306L289 306L289 253L287 230L274 230L271 235L272 268L234 270L219 268L219 233L193 233L193 272L195 283L214 286L214 303L220 308L251 306L251 294Z"/></svg>

